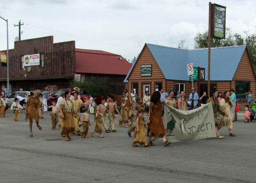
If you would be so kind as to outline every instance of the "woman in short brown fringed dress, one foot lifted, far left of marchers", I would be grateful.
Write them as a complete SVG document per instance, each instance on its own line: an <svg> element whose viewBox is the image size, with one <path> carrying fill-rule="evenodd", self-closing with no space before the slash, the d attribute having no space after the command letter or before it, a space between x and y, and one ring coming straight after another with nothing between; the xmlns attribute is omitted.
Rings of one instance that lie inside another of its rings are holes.
<svg viewBox="0 0 256 183"><path fill-rule="evenodd" d="M33 136L33 132L32 132L33 119L35 119L36 126L38 127L38 129L39 130L42 129L42 127L39 125L41 103L38 96L39 96L39 90L35 90L34 95L29 96L29 98L27 99L27 103L25 107L26 121L27 119L29 119L29 129L30 129L29 136Z"/></svg>

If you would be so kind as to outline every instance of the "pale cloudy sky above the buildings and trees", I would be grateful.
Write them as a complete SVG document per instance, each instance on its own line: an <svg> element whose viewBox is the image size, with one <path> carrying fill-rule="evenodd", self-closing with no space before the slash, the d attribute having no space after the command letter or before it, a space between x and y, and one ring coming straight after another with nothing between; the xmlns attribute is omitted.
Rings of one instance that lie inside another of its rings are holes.
<svg viewBox="0 0 256 183"><path fill-rule="evenodd" d="M145 42L194 48L196 34L208 29L207 0L1 0L0 16L9 22L9 49L21 39L54 36L76 41L76 48L138 56ZM233 33L256 32L255 0L216 0L227 7L226 25ZM0 50L7 48L6 22L0 19Z"/></svg>

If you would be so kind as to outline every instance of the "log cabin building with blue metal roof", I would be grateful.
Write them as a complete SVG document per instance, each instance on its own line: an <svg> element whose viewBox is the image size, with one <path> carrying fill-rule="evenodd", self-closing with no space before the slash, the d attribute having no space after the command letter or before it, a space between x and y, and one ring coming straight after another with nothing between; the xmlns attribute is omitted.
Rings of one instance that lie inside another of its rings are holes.
<svg viewBox="0 0 256 183"><path fill-rule="evenodd" d="M124 83L128 91L135 89L138 96L149 91L184 90L189 96L192 82L187 64L198 69L193 87L199 97L207 92L208 49L179 49L145 43ZM194 78L194 77L193 77ZM256 75L246 45L211 48L211 93L234 89L239 108L244 108L248 91L256 96Z"/></svg>

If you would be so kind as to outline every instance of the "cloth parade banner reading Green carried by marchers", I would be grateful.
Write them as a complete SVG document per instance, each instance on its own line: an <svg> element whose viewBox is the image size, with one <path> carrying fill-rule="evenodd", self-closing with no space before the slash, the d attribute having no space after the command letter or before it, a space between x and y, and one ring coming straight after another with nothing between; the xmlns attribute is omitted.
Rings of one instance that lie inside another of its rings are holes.
<svg viewBox="0 0 256 183"><path fill-rule="evenodd" d="M208 103L190 111L165 105L164 126L170 142L216 137L213 105Z"/></svg>

